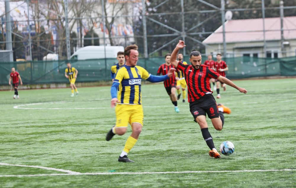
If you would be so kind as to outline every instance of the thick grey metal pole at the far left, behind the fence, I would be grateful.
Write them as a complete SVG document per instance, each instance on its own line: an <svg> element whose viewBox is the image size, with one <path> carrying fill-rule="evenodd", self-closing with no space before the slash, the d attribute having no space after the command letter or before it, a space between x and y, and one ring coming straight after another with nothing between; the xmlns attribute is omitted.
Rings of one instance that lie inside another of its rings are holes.
<svg viewBox="0 0 296 188"><path fill-rule="evenodd" d="M10 19L10 7L9 0L5 0L5 25L6 25L6 50L10 50L9 52L9 61L13 61L13 53L12 53L12 37L11 37L11 19Z"/></svg>

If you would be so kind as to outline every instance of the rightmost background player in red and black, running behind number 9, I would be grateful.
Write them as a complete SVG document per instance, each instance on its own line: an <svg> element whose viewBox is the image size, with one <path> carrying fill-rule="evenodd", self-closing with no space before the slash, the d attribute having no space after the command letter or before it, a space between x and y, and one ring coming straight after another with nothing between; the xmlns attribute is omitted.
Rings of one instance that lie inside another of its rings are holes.
<svg viewBox="0 0 296 188"><path fill-rule="evenodd" d="M216 71L223 77L226 77L226 73L225 71L228 71L228 67L226 65L225 61L222 61L222 55L221 54L217 54L217 61L215 62L215 68ZM221 83L221 87L223 87L224 91L226 90L226 84L224 84L223 82L216 80L217 83L217 98L221 98L220 95L220 83Z"/></svg>

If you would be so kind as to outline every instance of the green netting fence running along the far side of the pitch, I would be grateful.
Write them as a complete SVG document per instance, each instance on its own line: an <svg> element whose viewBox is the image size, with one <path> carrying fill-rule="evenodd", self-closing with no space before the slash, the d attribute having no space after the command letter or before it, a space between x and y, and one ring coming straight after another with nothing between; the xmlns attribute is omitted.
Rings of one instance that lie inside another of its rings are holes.
<svg viewBox="0 0 296 188"><path fill-rule="evenodd" d="M202 62L207 58L202 57ZM184 56L189 62L189 56ZM215 59L214 59L215 60ZM296 57L287 58L224 58L229 70L228 78L239 79L266 76L296 76ZM110 68L116 59L91 59L70 61L78 70L76 82L96 82L111 80ZM158 67L165 63L164 57L140 58L138 65L156 74ZM65 60L31 61L31 62L0 62L0 85L7 85L11 68L20 73L24 84L68 83L65 78Z"/></svg>

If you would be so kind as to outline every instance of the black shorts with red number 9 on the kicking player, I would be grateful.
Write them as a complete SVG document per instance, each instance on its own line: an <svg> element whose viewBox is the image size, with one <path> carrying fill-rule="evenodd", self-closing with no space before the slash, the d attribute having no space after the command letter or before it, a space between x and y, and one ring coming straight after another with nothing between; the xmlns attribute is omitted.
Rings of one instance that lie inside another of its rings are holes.
<svg viewBox="0 0 296 188"><path fill-rule="evenodd" d="M194 117L194 121L197 116L206 115L212 119L219 117L219 111L216 100L212 94L206 94L197 101L189 103L190 112ZM196 121L195 121L196 122Z"/></svg>

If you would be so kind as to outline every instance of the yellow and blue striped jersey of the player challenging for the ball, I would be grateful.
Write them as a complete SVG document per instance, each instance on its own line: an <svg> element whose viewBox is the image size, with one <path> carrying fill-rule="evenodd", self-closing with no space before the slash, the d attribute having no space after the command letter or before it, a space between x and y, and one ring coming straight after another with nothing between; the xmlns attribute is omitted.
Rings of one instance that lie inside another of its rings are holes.
<svg viewBox="0 0 296 188"><path fill-rule="evenodd" d="M122 66L116 73L114 82L118 82L119 92L117 95L119 104L141 104L141 80L148 79L150 74L140 66Z"/></svg>

